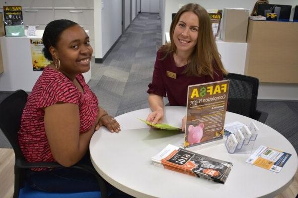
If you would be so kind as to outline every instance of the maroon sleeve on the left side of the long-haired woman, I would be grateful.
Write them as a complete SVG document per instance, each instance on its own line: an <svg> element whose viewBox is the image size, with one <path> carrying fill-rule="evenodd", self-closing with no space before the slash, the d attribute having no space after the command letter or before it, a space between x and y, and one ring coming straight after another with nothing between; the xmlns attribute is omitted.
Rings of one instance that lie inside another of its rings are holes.
<svg viewBox="0 0 298 198"><path fill-rule="evenodd" d="M165 88L164 88L164 83L163 83L163 78L162 75L162 61L160 58L162 57L162 53L160 51L157 51L156 53L156 60L154 64L154 71L152 75L152 83L148 85L149 89L147 91L148 94L155 94L161 97L166 97L165 93Z"/></svg>

